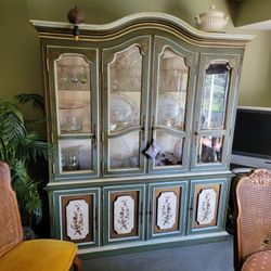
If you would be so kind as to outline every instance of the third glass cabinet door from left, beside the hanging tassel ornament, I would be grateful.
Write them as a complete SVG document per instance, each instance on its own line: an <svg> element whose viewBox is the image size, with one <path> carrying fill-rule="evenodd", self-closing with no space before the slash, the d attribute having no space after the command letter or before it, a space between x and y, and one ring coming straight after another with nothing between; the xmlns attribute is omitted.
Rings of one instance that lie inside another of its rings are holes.
<svg viewBox="0 0 271 271"><path fill-rule="evenodd" d="M155 39L150 142L160 150L150 159L151 171L188 168L195 64L196 54L167 39Z"/></svg>

